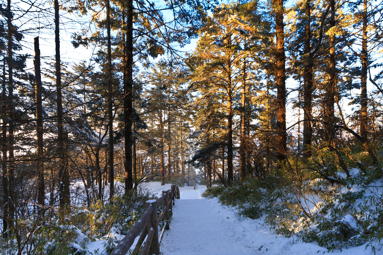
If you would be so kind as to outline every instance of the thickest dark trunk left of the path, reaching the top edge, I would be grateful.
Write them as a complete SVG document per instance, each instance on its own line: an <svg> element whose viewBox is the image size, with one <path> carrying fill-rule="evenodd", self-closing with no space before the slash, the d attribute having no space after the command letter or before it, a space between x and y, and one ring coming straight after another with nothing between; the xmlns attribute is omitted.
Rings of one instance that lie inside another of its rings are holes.
<svg viewBox="0 0 383 255"><path fill-rule="evenodd" d="M125 194L133 188L132 124L133 124L133 0L128 0L126 11L126 82L124 84L125 122Z"/></svg>

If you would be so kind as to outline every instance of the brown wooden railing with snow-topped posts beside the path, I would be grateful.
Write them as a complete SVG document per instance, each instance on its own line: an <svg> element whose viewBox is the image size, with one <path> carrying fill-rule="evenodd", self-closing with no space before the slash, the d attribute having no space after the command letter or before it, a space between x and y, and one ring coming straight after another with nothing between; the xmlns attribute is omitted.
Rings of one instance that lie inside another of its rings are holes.
<svg viewBox="0 0 383 255"><path fill-rule="evenodd" d="M133 254L137 254L147 235L146 242L140 254L147 255L149 253L150 255L159 255L160 242L164 236L165 229L169 229L169 210L173 208L174 199L180 199L180 190L176 185L172 185L170 190L163 190L162 196L159 199L146 201L146 211L110 255L125 255L133 245L134 239L136 239L140 233L141 235L133 250ZM162 213L157 218L157 206L161 202ZM165 225L161 230L161 234L158 235L158 224L161 221L165 221Z"/></svg>

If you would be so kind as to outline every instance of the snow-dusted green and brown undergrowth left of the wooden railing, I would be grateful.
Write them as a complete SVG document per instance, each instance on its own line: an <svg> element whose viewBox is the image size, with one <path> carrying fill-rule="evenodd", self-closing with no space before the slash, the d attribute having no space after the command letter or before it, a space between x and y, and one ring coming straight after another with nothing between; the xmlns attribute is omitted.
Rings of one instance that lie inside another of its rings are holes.
<svg viewBox="0 0 383 255"><path fill-rule="evenodd" d="M17 254L20 248L25 255L83 255L86 244L97 239L106 240L104 248L110 253L118 244L113 233L126 235L144 213L145 201L155 198L147 190L138 190L116 196L113 204L97 201L89 208L72 208L65 222L60 222L57 214L45 224L24 219L19 223L20 247L15 239L2 238L0 254Z"/></svg>

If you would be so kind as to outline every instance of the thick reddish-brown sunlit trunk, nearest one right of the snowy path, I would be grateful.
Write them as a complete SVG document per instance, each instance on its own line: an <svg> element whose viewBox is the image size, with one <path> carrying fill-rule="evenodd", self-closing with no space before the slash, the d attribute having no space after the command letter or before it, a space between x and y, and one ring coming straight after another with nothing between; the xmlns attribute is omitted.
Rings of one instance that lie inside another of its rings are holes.
<svg viewBox="0 0 383 255"><path fill-rule="evenodd" d="M274 0L275 4L275 33L277 68L275 72L275 83L277 86L277 159L278 167L280 161L285 160L286 153L286 68L285 68L285 36L283 25L283 0Z"/></svg>

